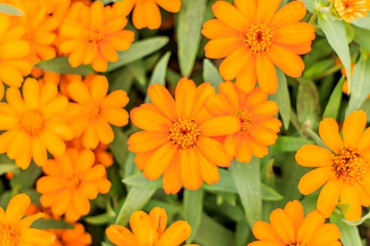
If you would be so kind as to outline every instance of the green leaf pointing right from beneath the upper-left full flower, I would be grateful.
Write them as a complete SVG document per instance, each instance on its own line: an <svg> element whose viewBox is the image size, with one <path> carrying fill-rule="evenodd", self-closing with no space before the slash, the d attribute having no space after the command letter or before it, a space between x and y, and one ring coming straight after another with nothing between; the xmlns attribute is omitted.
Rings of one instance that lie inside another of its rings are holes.
<svg viewBox="0 0 370 246"><path fill-rule="evenodd" d="M118 67L132 63L135 60L148 56L154 51L158 51L160 48L168 43L168 37L152 37L149 39L143 39L135 41L131 44L130 48L125 51L118 51L118 60L115 63L108 63L106 72L115 70Z"/></svg>

